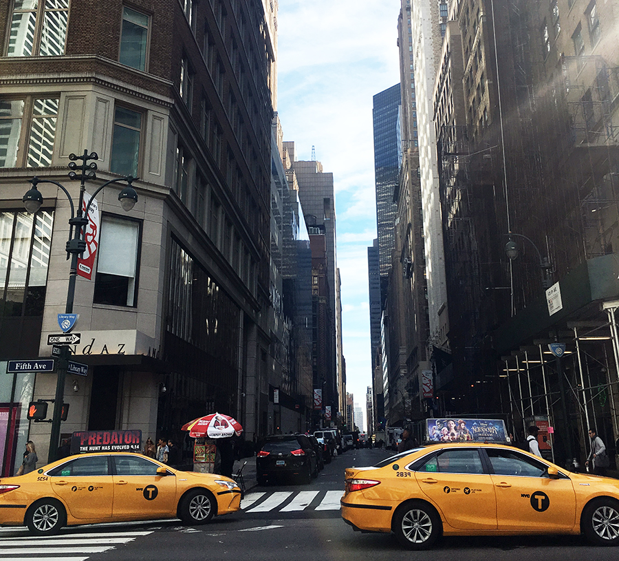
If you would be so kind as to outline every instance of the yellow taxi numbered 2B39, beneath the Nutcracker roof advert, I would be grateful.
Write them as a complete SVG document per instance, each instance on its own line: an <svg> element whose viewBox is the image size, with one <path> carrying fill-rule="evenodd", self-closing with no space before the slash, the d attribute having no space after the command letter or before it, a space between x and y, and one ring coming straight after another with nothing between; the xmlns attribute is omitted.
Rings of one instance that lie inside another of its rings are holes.
<svg viewBox="0 0 619 561"><path fill-rule="evenodd" d="M578 534L619 544L619 480L574 474L520 449L437 444L346 469L340 502L356 531L393 532L409 549L440 536Z"/></svg>

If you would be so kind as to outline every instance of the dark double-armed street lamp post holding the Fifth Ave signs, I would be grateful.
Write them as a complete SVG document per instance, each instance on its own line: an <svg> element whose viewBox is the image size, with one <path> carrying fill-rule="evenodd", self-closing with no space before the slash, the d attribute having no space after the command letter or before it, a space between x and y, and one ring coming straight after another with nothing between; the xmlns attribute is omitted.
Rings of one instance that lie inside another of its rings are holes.
<svg viewBox="0 0 619 561"><path fill-rule="evenodd" d="M85 183L87 180L96 180L96 170L97 165L95 162L91 162L90 160L98 160L98 155L96 152L92 152L88 154L88 151L85 150L83 156L76 156L75 154L69 155L69 178L80 180L80 196L78 202L77 212L73 204L73 200L69 191L61 184L51 179L42 180L38 177L33 177L28 180L32 184L32 189L29 189L25 195L23 195L23 203L25 209L29 213L36 213L41 208L43 204L43 196L37 186L41 183L53 183L58 188L67 195L67 199L69 200L69 204L71 205L71 218L69 219L69 240L67 241L66 251L67 251L67 260L69 259L69 255L71 256L71 268L69 270L69 288L67 291L67 305L65 307L65 313L70 314L73 313L73 302L75 297L75 284L77 277L77 266L78 266L78 258L84 253L86 249L86 241L85 237L85 226L88 224L88 212L90 209L90 205L93 202L96 195L111 183L116 183L120 181L127 182L127 186L120 191L118 195L118 200L120 201L120 206L125 212L129 212L133 209L135 202L138 201L138 193L133 189L132 182L137 180L138 178L133 178L132 176L122 177L111 179L106 181L96 191L93 193L91 198L86 205L85 211L82 211L83 203L84 203L84 194L86 191ZM82 160L80 165L76 164L76 160ZM90 162L90 163L89 163ZM63 354L60 359L58 359L58 380L56 381L56 398L54 399L54 414L52 416L52 430L50 434L50 453L48 456L48 461L52 462L58 459L58 441L60 439L60 429L61 429L61 414L63 409L63 398L65 394L65 377L67 375L67 360L69 358L69 348L63 348Z"/></svg>

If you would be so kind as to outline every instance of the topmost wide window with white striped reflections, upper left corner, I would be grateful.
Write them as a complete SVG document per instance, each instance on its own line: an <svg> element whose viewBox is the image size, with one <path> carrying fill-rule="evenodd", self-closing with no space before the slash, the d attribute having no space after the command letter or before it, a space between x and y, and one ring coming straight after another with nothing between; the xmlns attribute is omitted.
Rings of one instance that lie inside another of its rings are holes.
<svg viewBox="0 0 619 561"><path fill-rule="evenodd" d="M65 54L69 0L14 0L7 56Z"/></svg>

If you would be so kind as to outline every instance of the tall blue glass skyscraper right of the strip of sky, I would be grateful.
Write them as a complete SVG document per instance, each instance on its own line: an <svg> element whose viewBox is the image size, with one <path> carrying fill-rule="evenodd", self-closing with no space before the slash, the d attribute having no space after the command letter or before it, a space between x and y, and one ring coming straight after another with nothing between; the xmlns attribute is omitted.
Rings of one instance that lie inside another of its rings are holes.
<svg viewBox="0 0 619 561"><path fill-rule="evenodd" d="M376 224L378 229L378 254L380 277L387 285L394 248L393 222L395 203L393 193L398 185L400 140L400 84L385 89L373 97L374 173L376 185Z"/></svg>

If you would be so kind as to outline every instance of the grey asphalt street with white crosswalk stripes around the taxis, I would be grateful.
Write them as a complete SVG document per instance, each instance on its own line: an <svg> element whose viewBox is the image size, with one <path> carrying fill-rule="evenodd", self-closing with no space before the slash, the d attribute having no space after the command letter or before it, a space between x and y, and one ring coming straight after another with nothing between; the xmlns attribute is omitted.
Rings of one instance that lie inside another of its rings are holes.
<svg viewBox="0 0 619 561"><path fill-rule="evenodd" d="M580 536L443 538L428 553L406 551L389 534L355 532L340 518L344 469L372 465L388 454L350 450L325 465L310 485L253 487L243 511L205 526L188 527L180 520L91 525L67 528L51 538L32 538L25 528L1 528L0 561L410 561L428 555L446 561L580 561L592 555ZM595 548L594 555L614 560L616 549Z"/></svg>

